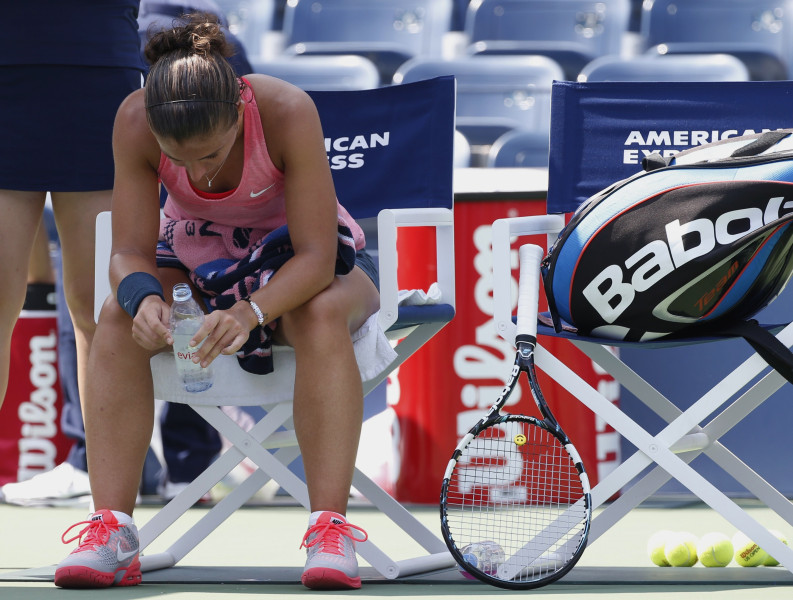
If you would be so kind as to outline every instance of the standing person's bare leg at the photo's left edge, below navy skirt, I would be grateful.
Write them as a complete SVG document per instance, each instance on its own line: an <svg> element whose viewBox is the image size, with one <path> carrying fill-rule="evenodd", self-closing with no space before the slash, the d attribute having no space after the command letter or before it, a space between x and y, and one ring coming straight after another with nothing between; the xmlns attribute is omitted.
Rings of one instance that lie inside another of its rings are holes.
<svg viewBox="0 0 793 600"><path fill-rule="evenodd" d="M0 190L0 281L3 301L0 302L0 405L8 388L8 365L11 334L25 303L28 264L33 241L44 211L44 192Z"/></svg>

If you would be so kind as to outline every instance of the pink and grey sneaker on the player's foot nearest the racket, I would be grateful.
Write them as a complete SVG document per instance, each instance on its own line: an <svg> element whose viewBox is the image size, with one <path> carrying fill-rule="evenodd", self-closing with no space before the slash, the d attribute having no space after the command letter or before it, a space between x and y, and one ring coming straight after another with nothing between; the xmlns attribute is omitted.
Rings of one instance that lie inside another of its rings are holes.
<svg viewBox="0 0 793 600"><path fill-rule="evenodd" d="M365 542L366 532L350 525L340 514L314 512L308 522L308 531L300 547L306 547L308 557L300 581L315 590L343 590L361 587L358 576L358 559L355 542ZM354 536L360 531L362 538Z"/></svg>

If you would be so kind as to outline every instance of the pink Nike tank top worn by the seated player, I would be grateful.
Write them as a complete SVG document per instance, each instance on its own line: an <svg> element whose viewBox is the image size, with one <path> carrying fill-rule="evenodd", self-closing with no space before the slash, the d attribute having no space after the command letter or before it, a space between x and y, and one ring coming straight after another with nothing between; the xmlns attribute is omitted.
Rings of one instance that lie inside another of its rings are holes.
<svg viewBox="0 0 793 600"><path fill-rule="evenodd" d="M243 137L245 159L236 189L222 194L197 190L184 167L175 166L160 154L159 176L168 190L163 212L170 219L201 219L232 227L250 227L270 232L286 223L284 174L270 160L264 141L259 108L250 86L245 86ZM347 222L356 249L366 245L363 230L336 201L339 215Z"/></svg>

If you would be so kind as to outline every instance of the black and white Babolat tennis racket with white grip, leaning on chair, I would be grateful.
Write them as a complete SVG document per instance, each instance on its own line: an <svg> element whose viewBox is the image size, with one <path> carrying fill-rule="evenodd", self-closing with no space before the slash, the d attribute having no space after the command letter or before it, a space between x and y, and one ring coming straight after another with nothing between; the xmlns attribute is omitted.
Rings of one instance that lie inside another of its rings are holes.
<svg viewBox="0 0 793 600"><path fill-rule="evenodd" d="M487 414L446 467L441 529L463 574L507 589L547 585L584 552L592 502L581 458L543 398L534 371L539 246L520 249L517 355ZM500 411L525 373L542 420Z"/></svg>

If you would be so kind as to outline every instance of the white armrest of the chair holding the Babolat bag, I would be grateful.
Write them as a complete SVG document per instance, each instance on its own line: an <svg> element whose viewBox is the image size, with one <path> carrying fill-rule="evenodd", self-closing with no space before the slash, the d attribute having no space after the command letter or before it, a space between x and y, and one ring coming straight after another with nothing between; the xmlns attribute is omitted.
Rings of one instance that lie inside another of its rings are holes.
<svg viewBox="0 0 793 600"><path fill-rule="evenodd" d="M512 322L512 310L517 301L512 268L517 267L518 253L511 250L510 242L514 237L545 234L550 245L563 227L563 215L514 217L493 222L493 321L496 333L511 344L517 332Z"/></svg>

